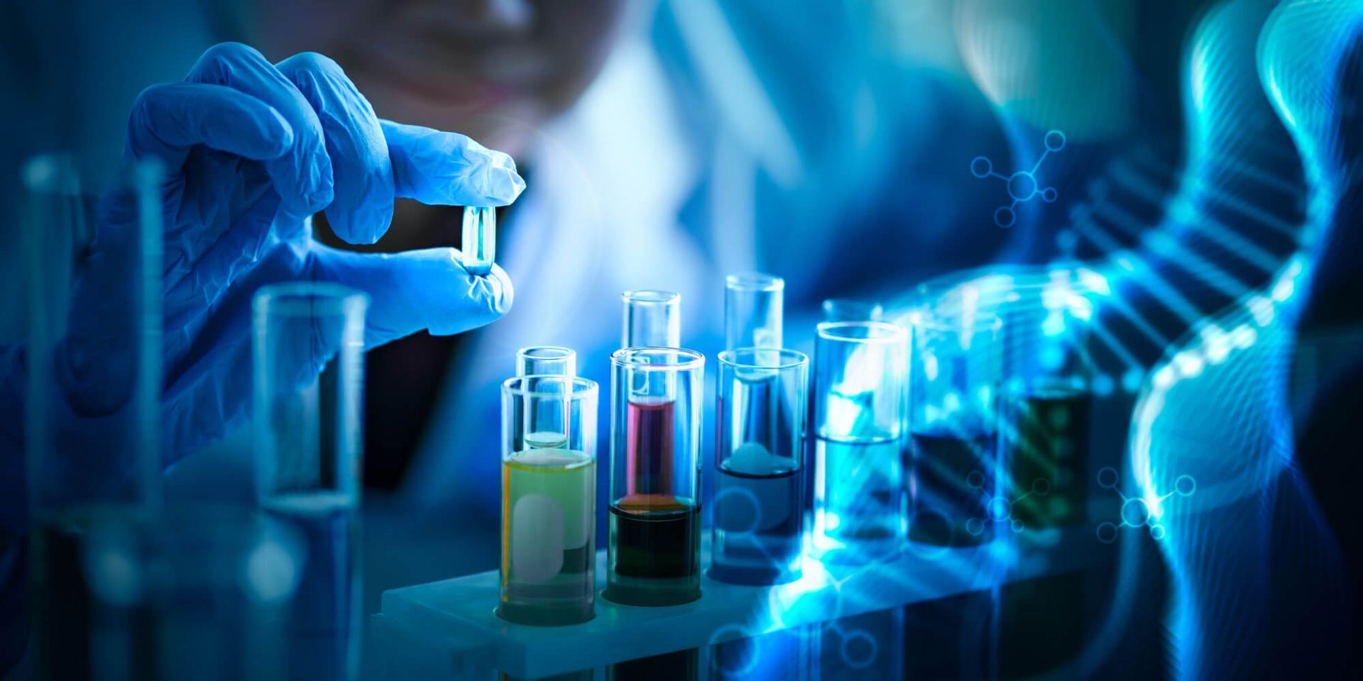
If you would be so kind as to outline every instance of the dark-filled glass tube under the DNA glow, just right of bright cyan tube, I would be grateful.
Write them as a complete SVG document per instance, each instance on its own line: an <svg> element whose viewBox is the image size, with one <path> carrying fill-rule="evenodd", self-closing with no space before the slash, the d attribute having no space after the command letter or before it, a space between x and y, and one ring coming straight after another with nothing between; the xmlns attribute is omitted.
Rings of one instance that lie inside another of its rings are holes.
<svg viewBox="0 0 1363 681"><path fill-rule="evenodd" d="M1011 501L995 486L1002 323L949 300L916 311L910 326L909 538L939 546L988 541L995 523L1011 520Z"/></svg>

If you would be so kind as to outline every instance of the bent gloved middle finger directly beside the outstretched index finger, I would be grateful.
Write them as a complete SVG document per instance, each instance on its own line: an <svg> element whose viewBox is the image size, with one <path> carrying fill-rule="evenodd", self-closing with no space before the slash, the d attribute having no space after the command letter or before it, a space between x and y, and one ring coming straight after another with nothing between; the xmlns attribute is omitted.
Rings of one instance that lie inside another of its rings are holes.
<svg viewBox="0 0 1363 681"><path fill-rule="evenodd" d="M393 165L373 108L341 67L315 52L275 67L312 105L326 133L335 197L327 223L352 244L372 244L393 222Z"/></svg>

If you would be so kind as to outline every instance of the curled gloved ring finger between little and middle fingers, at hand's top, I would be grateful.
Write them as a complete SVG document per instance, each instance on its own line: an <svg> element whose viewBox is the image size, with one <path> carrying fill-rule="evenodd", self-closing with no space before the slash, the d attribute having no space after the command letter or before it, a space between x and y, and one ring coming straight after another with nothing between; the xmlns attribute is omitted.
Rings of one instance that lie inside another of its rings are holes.
<svg viewBox="0 0 1363 681"><path fill-rule="evenodd" d="M266 162L284 211L303 218L331 203L331 158L323 142L322 121L298 89L263 54L239 42L221 42L204 50L185 80L233 87L269 104L289 121L293 146L282 157Z"/></svg>

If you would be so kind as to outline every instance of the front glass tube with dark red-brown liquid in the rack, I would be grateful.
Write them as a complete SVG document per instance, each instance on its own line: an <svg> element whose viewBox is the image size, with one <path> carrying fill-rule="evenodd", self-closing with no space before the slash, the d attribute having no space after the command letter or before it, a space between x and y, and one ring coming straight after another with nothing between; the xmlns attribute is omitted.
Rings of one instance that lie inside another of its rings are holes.
<svg viewBox="0 0 1363 681"><path fill-rule="evenodd" d="M701 398L705 355L634 347L611 355L611 542L605 598L701 598Z"/></svg>

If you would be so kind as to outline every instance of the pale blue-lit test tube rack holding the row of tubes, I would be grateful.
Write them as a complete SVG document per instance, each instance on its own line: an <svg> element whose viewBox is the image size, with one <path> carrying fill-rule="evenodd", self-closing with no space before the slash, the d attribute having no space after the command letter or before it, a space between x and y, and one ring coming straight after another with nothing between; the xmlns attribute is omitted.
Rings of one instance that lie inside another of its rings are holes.
<svg viewBox="0 0 1363 681"><path fill-rule="evenodd" d="M699 601L637 607L597 598L596 618L571 627L499 620L496 571L383 592L371 621L369 665L388 678L488 678L491 670L540 678L725 643L861 613L988 590L1099 563L1086 527L1051 530L1044 542L970 548L908 545L894 560L837 565L806 560L799 582L746 587L702 577ZM1045 543L1041 546L1040 543ZM709 565L709 541L702 564ZM607 553L597 553L597 590Z"/></svg>

